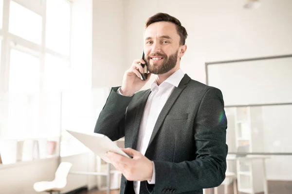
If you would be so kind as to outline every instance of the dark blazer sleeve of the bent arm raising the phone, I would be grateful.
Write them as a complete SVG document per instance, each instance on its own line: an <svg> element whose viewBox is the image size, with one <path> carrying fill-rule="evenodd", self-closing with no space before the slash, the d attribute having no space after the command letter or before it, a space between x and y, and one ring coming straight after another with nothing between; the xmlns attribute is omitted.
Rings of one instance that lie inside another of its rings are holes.
<svg viewBox="0 0 292 194"><path fill-rule="evenodd" d="M117 94L119 87L113 87L105 106L100 112L94 132L108 136L116 141L125 136L125 115L128 104L133 97Z"/></svg>

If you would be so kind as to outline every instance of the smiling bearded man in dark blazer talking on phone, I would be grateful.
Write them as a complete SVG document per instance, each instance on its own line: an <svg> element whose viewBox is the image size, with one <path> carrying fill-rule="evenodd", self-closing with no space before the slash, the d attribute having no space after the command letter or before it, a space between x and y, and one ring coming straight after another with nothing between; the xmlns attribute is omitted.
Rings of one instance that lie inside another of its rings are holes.
<svg viewBox="0 0 292 194"><path fill-rule="evenodd" d="M121 194L202 194L225 178L227 120L221 91L180 69L187 47L181 22L158 13L146 21L145 61L137 59L111 89L94 132L125 136L131 158L108 152L122 172ZM146 81L140 78L147 64ZM140 91L156 75L151 89Z"/></svg>

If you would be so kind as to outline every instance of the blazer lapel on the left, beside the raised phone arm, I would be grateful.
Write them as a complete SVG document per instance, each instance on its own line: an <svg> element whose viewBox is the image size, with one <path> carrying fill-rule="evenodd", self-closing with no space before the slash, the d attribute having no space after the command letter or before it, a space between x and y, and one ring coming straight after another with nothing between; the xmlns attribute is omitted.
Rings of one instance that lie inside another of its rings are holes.
<svg viewBox="0 0 292 194"><path fill-rule="evenodd" d="M135 149L136 145L137 145L137 139L138 139L138 132L139 132L139 128L140 128L140 123L141 123L142 116L143 116L143 113L144 113L144 108L145 108L145 105L146 105L146 102L147 102L147 99L148 99L150 93L151 93L150 89L148 91L146 91L146 93L142 97L142 99L141 99L141 101L139 103L139 106L138 106L138 110L137 110L137 113L136 113L134 126L133 126L133 129L132 129L132 131L133 131L133 133L132 133L133 134L133 136L132 136L132 146L131 146L132 149Z"/></svg>

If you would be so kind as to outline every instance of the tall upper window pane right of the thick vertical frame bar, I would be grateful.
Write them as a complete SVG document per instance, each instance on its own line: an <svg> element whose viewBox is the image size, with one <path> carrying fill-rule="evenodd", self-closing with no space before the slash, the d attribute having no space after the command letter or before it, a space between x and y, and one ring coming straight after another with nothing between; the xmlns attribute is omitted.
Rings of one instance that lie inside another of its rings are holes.
<svg viewBox="0 0 292 194"><path fill-rule="evenodd" d="M68 0L47 0L46 47L69 55L71 5Z"/></svg>

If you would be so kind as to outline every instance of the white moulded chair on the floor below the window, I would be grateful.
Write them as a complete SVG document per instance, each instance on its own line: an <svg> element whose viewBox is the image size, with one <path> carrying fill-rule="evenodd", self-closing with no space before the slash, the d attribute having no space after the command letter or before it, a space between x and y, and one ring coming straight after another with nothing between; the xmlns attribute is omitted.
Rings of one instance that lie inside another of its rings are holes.
<svg viewBox="0 0 292 194"><path fill-rule="evenodd" d="M67 184L67 176L72 167L70 162L61 162L55 172L55 179L53 181L40 181L34 184L36 192L60 192Z"/></svg>

